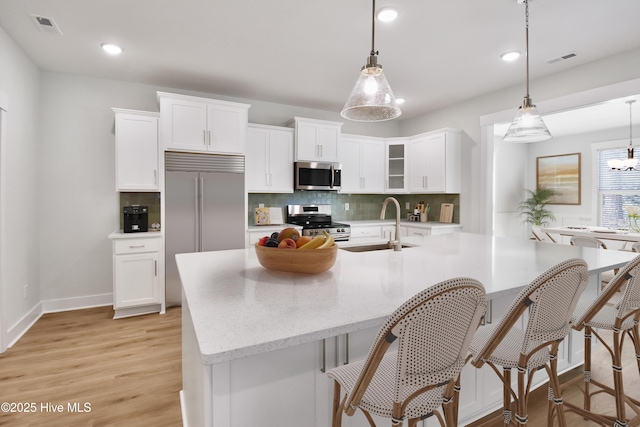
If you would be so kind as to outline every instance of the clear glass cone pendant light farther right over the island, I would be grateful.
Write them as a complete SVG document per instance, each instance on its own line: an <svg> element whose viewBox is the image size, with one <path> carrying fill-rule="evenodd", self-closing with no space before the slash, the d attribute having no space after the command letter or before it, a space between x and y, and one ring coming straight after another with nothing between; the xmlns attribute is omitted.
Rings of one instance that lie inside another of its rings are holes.
<svg viewBox="0 0 640 427"><path fill-rule="evenodd" d="M511 126L502 140L505 142L541 142L551 139L551 133L529 98L529 0L518 0L519 3L522 1L524 1L525 10L527 93L524 96L522 106L518 109L518 114L511 122Z"/></svg>

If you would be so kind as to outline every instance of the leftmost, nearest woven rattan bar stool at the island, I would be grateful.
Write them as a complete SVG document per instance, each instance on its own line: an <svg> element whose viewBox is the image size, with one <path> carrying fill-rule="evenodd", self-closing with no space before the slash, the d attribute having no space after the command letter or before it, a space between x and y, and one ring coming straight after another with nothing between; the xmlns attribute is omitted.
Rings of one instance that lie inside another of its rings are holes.
<svg viewBox="0 0 640 427"><path fill-rule="evenodd" d="M407 419L413 427L434 413L441 425L455 425L454 386L485 308L484 287L469 278L430 286L398 307L366 360L327 371L334 380L332 425L341 426L343 413L357 409L372 426L371 414L394 426ZM397 349L388 351L394 341Z"/></svg>

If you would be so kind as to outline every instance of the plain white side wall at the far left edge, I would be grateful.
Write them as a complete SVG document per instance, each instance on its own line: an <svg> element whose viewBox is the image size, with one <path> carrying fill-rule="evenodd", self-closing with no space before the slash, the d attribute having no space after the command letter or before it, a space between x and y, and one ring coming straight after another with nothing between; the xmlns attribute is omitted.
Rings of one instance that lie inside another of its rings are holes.
<svg viewBox="0 0 640 427"><path fill-rule="evenodd" d="M38 131L40 71L0 28L0 92L8 112L2 152L3 221L0 238L2 328L23 329L34 320L41 300L38 283ZM25 299L24 285L29 285ZM6 344L6 343L4 343Z"/></svg>

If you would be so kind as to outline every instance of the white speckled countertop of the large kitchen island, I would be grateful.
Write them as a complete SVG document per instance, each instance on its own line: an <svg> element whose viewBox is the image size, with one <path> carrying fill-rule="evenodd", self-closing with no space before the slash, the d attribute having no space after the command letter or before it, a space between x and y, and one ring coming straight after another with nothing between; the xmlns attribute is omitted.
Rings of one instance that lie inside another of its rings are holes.
<svg viewBox="0 0 640 427"><path fill-rule="evenodd" d="M314 275L267 270L253 248L177 255L202 363L377 326L413 295L453 277L479 280L491 298L515 295L569 258L583 258L598 273L635 255L471 233L402 240L416 246L400 252L340 249L335 265Z"/></svg>

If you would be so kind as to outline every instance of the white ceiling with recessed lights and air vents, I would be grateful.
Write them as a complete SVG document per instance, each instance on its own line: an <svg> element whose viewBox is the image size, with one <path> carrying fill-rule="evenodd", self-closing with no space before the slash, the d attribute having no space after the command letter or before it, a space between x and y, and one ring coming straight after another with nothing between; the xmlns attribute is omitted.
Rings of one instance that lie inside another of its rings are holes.
<svg viewBox="0 0 640 427"><path fill-rule="evenodd" d="M378 0L384 6L400 11L376 23L375 46L407 99L400 119L514 85L524 95L524 57L499 58L524 51L524 5ZM340 111L371 48L371 8L370 0L0 0L0 26L44 70ZM53 18L63 35L41 32L31 14ZM530 0L532 79L640 48L638 17L638 0ZM108 56L103 42L125 50ZM547 62L570 52L577 56Z"/></svg>

